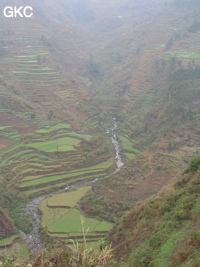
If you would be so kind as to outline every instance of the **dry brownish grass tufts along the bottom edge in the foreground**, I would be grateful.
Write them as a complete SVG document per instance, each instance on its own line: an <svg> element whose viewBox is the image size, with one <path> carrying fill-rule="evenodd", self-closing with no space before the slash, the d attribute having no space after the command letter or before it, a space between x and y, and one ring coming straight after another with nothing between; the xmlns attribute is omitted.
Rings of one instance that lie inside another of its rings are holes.
<svg viewBox="0 0 200 267"><path fill-rule="evenodd" d="M106 246L105 242L98 248L88 248L86 239L82 245L73 243L71 246L63 244L51 245L43 250L34 260L27 259L20 254L5 255L0 258L2 267L114 267L113 251L111 247Z"/></svg>

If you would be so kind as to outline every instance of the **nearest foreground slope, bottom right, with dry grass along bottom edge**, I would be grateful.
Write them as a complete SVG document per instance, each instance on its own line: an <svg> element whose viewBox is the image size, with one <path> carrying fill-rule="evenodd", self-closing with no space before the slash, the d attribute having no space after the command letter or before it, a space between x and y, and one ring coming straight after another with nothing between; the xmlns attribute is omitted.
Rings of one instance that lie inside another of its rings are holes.
<svg viewBox="0 0 200 267"><path fill-rule="evenodd" d="M157 195L139 202L109 235L113 251L83 245L51 246L35 259L1 257L6 266L198 267L200 264L200 156Z"/></svg>

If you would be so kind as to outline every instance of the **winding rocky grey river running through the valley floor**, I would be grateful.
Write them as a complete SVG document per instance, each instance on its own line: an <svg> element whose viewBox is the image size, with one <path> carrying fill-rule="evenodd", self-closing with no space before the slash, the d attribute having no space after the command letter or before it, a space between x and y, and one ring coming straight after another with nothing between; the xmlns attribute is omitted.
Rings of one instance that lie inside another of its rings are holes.
<svg viewBox="0 0 200 267"><path fill-rule="evenodd" d="M112 141L114 148L115 148L115 162L117 165L115 172L118 172L120 170L120 168L124 165L124 163L122 162L122 159L120 156L120 146L119 146L119 143L117 141L117 136L115 134L115 130L117 129L119 122L117 122L115 118L113 120L114 120L113 127L111 127L110 129L107 129L106 132L107 132L107 134L110 135L111 141ZM112 174L113 173L111 173L110 175L112 175ZM96 179L89 181L89 182L76 183L74 185L67 186L64 190L67 190L70 188L77 188L77 187L81 187L81 186L86 186L86 185L93 185L94 183L96 183L96 181L98 179L99 178L96 178ZM40 202L48 196L49 195L44 195L44 196L40 196L40 197L32 199L26 205L26 207L23 209L23 214L25 214L26 216L29 216L29 218L31 220L33 230L31 231L30 234L25 234L23 231L20 231L20 234L21 234L21 237L26 241L26 243L30 249L31 254L33 254L33 255L36 254L42 247L41 236L40 236L40 231L39 231L40 216L38 213L38 206L39 206Z"/></svg>

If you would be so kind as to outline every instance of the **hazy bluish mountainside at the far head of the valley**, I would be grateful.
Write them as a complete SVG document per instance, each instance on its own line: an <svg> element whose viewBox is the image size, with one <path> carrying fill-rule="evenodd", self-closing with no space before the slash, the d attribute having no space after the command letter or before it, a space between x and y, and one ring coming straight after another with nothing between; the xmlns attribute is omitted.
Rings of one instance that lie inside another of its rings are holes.
<svg viewBox="0 0 200 267"><path fill-rule="evenodd" d="M98 90L105 92L104 88L107 88L107 94L111 89L105 80L110 73L108 60L117 64L113 53L115 54L117 40L123 37L124 28L131 30L148 21L165 2L68 0L57 3L48 1L48 5L44 2L40 6L47 9L48 14L61 25L55 35L62 52L59 59L64 69L67 67L67 72L70 72L79 86L91 95L96 95ZM52 11L53 5L56 8ZM66 46L66 43L69 44ZM118 48L116 47L117 50ZM73 59L71 55L74 56ZM100 95L98 101L99 98Z"/></svg>

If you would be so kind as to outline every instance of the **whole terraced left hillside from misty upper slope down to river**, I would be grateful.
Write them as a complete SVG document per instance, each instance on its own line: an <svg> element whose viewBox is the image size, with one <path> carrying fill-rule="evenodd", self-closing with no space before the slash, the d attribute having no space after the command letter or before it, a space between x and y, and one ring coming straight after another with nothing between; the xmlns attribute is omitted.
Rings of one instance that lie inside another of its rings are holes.
<svg viewBox="0 0 200 267"><path fill-rule="evenodd" d="M85 134L87 111L91 116L96 107L60 72L51 31L35 19L26 27L3 20L0 28L0 171L7 187L31 197L110 173L111 154L100 153L101 144Z"/></svg>

